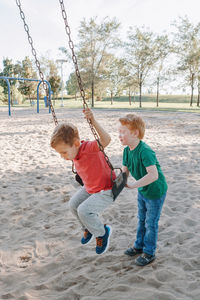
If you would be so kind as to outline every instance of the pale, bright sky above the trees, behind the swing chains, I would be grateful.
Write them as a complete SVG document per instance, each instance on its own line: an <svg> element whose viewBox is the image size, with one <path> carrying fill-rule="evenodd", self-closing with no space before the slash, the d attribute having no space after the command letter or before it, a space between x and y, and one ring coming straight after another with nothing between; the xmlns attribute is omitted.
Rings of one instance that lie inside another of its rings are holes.
<svg viewBox="0 0 200 300"><path fill-rule="evenodd" d="M33 44L38 56L61 59L59 47L68 47L59 0L20 0ZM71 37L77 42L80 22L85 18L116 18L121 23L120 34L125 38L130 26L145 26L155 33L172 31L171 23L187 15L190 22L200 22L199 0L64 0ZM13 62L31 57L19 9L15 0L0 0L0 69L3 58ZM64 75L71 67L66 64Z"/></svg>

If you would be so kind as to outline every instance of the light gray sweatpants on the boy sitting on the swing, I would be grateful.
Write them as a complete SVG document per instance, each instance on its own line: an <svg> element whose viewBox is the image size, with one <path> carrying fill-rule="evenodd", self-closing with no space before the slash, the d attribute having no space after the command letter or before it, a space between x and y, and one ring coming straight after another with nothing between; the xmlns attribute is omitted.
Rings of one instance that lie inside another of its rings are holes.
<svg viewBox="0 0 200 300"><path fill-rule="evenodd" d="M105 234L104 224L100 221L99 214L112 203L111 190L88 194L83 186L70 199L69 208L78 219L82 229L87 229L98 237Z"/></svg>

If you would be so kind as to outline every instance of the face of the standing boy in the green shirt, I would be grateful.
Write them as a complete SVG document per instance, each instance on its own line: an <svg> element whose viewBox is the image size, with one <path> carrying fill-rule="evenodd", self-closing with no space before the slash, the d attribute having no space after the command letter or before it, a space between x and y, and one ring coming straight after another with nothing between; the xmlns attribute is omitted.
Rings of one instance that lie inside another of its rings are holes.
<svg viewBox="0 0 200 300"><path fill-rule="evenodd" d="M119 128L119 140L122 145L131 145L136 139L138 139L138 130L131 131L126 125L120 123Z"/></svg>

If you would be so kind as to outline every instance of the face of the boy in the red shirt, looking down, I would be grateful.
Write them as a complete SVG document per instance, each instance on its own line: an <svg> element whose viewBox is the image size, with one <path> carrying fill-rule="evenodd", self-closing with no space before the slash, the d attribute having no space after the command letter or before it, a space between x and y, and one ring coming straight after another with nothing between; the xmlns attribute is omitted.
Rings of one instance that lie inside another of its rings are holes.
<svg viewBox="0 0 200 300"><path fill-rule="evenodd" d="M80 147L80 141L75 141L73 146L70 146L64 142L60 142L56 145L55 150L60 154L65 160L73 160L78 154Z"/></svg>

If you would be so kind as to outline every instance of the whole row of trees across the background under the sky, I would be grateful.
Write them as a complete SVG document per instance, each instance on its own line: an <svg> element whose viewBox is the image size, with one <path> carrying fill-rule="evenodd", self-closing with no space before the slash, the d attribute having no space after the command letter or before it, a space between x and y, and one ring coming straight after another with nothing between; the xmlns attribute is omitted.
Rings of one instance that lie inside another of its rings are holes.
<svg viewBox="0 0 200 300"><path fill-rule="evenodd" d="M171 25L172 33L156 34L148 28L130 27L125 40L120 37L121 24L117 19L106 17L100 23L97 18L83 19L78 29L78 43L75 46L79 71L86 97L94 106L95 98L101 100L126 93L131 98L139 96L142 107L144 86L149 92L156 91L159 104L161 87L170 86L190 89L190 106L197 94L200 98L200 23L194 25L187 16L179 17ZM72 63L69 49L61 47L65 59ZM61 77L53 60L41 59L45 78L50 82L52 91L57 95L61 88ZM12 63L4 59L0 76L21 76L37 78L33 62L26 57L22 62ZM16 86L17 85L17 86ZM34 82L12 82L12 88L21 95L32 97ZM16 89L15 89L16 88ZM5 82L0 81L1 94L7 93ZM3 90L2 90L3 89ZM68 94L79 95L76 72L72 72L66 82Z"/></svg>

